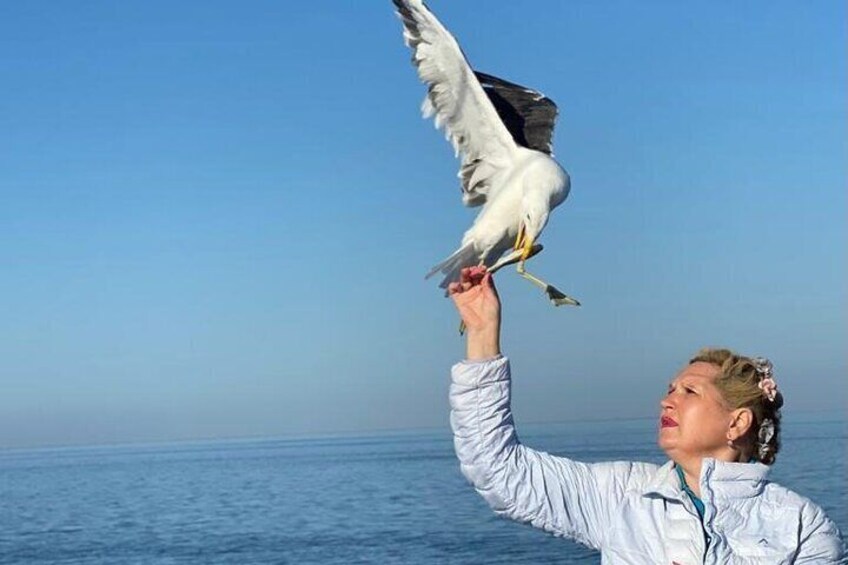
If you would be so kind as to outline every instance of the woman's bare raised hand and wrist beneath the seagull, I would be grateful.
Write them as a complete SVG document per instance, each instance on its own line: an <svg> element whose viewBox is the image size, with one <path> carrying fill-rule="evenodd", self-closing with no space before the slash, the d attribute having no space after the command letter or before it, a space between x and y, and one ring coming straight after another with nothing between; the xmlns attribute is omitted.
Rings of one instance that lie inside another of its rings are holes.
<svg viewBox="0 0 848 565"><path fill-rule="evenodd" d="M468 359L498 355L501 352L501 302L491 273L484 267L462 269L459 282L448 286L448 296L465 323Z"/></svg>

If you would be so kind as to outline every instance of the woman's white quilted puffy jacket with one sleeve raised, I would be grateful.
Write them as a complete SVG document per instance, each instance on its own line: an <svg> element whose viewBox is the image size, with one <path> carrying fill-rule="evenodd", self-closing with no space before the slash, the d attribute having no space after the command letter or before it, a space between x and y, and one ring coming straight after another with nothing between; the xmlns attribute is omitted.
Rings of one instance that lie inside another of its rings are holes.
<svg viewBox="0 0 848 565"><path fill-rule="evenodd" d="M767 481L765 465L705 459L702 526L671 462L587 464L521 445L505 357L464 361L452 377L462 472L498 514L597 549L605 564L848 563L836 525Z"/></svg>

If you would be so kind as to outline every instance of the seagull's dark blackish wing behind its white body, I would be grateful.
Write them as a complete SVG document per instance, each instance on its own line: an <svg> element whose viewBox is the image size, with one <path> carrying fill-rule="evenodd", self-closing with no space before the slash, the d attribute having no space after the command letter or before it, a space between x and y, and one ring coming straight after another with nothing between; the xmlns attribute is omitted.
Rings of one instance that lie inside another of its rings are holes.
<svg viewBox="0 0 848 565"><path fill-rule="evenodd" d="M526 86L479 71L474 74L515 142L551 155L557 117L554 101Z"/></svg>

